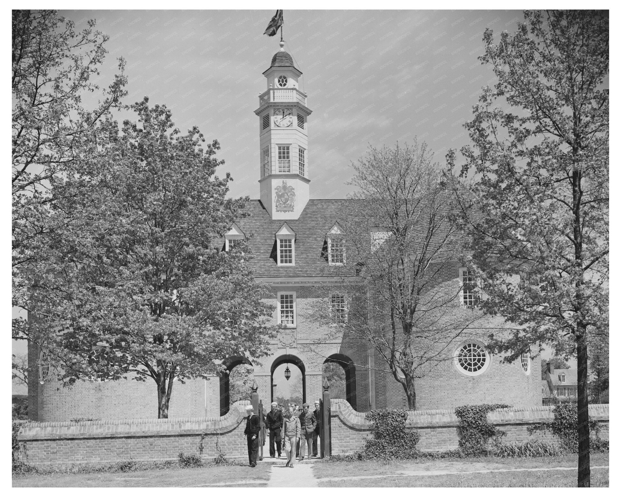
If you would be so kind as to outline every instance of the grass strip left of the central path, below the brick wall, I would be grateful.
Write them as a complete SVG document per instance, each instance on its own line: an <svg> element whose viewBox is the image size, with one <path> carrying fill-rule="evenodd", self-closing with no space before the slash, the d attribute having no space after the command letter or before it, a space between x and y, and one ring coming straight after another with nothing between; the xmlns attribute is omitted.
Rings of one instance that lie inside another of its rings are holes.
<svg viewBox="0 0 621 497"><path fill-rule="evenodd" d="M222 483L233 486L266 486L271 464L256 468L215 466L208 468L166 468L129 473L53 473L51 475L14 476L12 486L206 486ZM260 483L256 480L265 481ZM248 483L245 483L248 482Z"/></svg>

